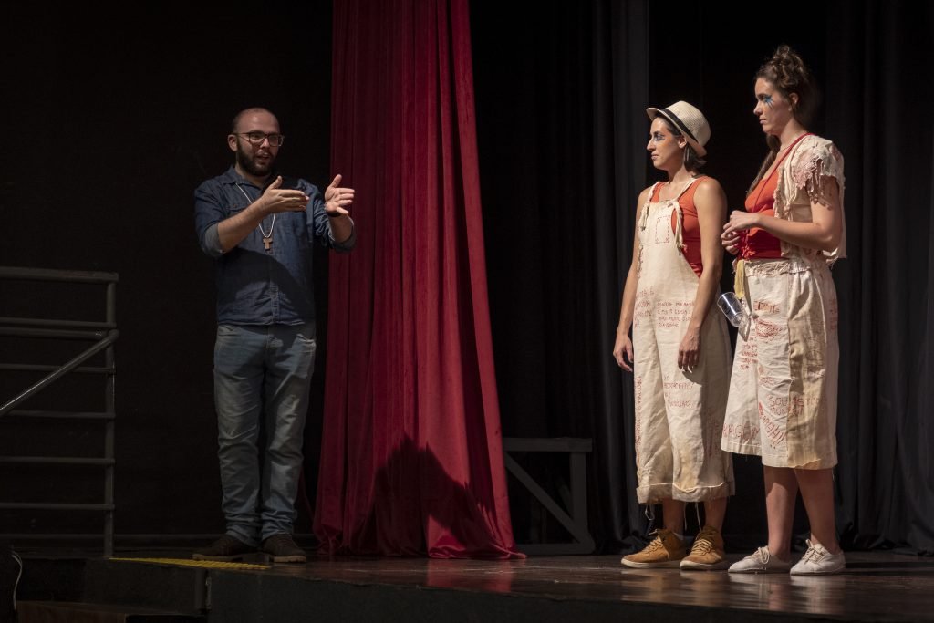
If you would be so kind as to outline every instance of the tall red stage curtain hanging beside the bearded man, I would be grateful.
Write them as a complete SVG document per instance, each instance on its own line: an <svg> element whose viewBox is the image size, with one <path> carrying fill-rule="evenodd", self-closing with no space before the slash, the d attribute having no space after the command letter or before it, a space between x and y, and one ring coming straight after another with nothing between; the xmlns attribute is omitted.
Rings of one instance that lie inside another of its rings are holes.
<svg viewBox="0 0 934 623"><path fill-rule="evenodd" d="M357 248L330 267L315 534L326 552L513 558L467 0L336 0L332 167Z"/></svg>

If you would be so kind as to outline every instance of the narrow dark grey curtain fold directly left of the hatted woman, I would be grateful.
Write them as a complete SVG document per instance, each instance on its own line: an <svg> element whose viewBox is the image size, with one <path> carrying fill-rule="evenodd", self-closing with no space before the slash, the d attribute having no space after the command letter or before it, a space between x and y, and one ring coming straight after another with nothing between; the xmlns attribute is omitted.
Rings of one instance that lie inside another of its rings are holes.
<svg viewBox="0 0 934 623"><path fill-rule="evenodd" d="M602 2L594 8L590 262L596 286L592 311L596 361L592 365L597 401L589 415L589 428L596 437L590 496L600 520L596 532L601 549L615 550L644 528L631 467L635 465L632 377L620 373L609 351L616 339L619 305L632 259L633 205L645 186L641 147L648 87L644 55L648 7L643 2Z"/></svg>

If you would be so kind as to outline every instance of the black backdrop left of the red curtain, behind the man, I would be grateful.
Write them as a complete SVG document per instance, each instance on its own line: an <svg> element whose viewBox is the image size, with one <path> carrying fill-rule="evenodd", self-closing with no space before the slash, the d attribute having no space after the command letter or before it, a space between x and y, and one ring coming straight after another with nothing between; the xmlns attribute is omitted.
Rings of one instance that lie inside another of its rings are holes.
<svg viewBox="0 0 934 623"><path fill-rule="evenodd" d="M232 162L226 135L233 115L247 106L275 111L286 135L283 169L322 188L330 181L331 3L263 3L244 12L179 7L140 5L134 17L64 3L7 8L0 42L7 136L0 265L120 274L118 533L223 527L212 262L197 247L192 192ZM316 272L324 278L321 259ZM5 308L21 304L13 291L0 290ZM34 311L61 317L76 302L61 300L60 291L37 287L27 298ZM326 289L319 294L326 309ZM93 304L103 314L99 299ZM9 352L0 359L23 357ZM318 404L322 382L317 375ZM306 444L312 482L319 408L313 420ZM0 443L21 443L12 431L0 433ZM52 474L35 474L39 486L5 475L0 490L14 501L56 494L45 490ZM91 501L99 501L99 489L89 492ZM39 514L27 528L54 531L63 521ZM307 513L300 521L309 531Z"/></svg>

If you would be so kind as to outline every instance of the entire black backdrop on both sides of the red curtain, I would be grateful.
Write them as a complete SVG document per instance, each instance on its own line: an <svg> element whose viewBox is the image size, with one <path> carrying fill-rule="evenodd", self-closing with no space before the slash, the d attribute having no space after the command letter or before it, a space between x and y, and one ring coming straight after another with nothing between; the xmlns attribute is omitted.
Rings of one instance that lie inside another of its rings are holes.
<svg viewBox="0 0 934 623"><path fill-rule="evenodd" d="M120 273L117 531L211 533L222 526L213 289L191 191L229 164L229 121L254 105L283 123L283 167L327 183L331 3L138 10L7 9L0 265ZM630 494L630 379L610 357L632 201L657 176L644 155L644 107L701 107L713 127L707 172L739 206L764 149L751 77L785 42L824 86L811 129L846 158L850 258L834 269L845 543L934 550L929 5L478 0L472 16L503 431L594 438L589 500L601 547L618 550L644 529ZM49 296L5 287L0 305L82 307ZM319 329L323 338L323 321ZM16 359L0 348L0 359ZM309 490L324 382L316 375ZM757 460L737 460L737 476L726 530L739 546L764 531L764 509ZM30 494L3 478L5 490ZM517 524L522 503L517 495ZM27 523L41 531L55 521ZM303 511L300 530L306 521Z"/></svg>

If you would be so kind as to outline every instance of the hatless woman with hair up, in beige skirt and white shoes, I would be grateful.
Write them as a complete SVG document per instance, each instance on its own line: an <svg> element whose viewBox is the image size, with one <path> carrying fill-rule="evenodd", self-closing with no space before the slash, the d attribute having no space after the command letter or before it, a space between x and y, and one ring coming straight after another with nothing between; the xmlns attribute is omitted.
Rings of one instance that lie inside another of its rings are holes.
<svg viewBox="0 0 934 623"><path fill-rule="evenodd" d="M829 266L845 255L843 158L805 129L816 106L800 56L781 46L756 74L754 112L769 153L724 226L736 254L736 293L750 322L737 337L723 448L762 457L769 544L730 573L837 573L837 293ZM792 566L795 500L811 523Z"/></svg>

